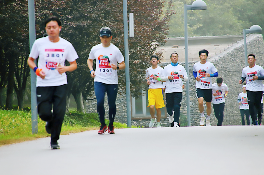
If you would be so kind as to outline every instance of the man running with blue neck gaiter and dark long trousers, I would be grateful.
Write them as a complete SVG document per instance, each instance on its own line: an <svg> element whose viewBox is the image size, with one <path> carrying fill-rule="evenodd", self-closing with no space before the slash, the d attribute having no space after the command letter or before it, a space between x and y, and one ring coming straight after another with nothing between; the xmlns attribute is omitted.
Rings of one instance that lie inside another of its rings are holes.
<svg viewBox="0 0 264 175"><path fill-rule="evenodd" d="M170 55L171 64L164 67L161 81L166 81L166 108L169 116L169 123L174 122L178 127L180 117L180 106L182 102L182 79L188 80L188 74L184 67L178 64L179 55ZM174 111L173 111L174 109Z"/></svg>

